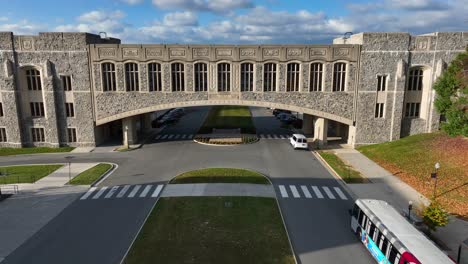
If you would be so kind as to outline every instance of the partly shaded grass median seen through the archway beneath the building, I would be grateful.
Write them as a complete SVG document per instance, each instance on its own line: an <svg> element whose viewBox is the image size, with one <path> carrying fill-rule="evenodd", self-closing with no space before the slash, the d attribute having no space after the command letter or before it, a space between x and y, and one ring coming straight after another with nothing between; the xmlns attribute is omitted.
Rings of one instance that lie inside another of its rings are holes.
<svg viewBox="0 0 468 264"><path fill-rule="evenodd" d="M213 128L240 128L242 133L256 133L250 109L247 106L213 106L198 133L208 134L212 132Z"/></svg>

